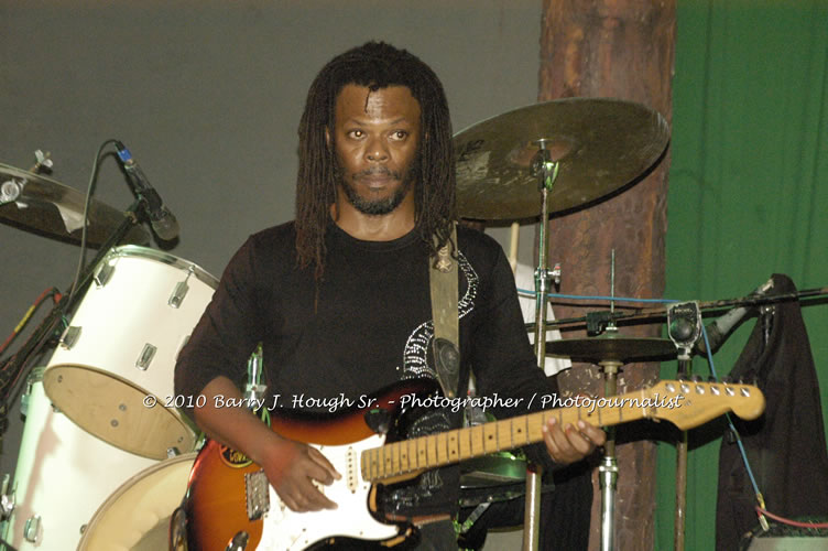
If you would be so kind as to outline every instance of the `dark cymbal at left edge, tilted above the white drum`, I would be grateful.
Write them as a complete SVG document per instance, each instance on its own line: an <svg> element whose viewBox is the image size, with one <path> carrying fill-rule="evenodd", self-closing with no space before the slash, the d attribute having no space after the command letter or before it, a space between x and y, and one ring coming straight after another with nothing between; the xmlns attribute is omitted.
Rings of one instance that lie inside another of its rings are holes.
<svg viewBox="0 0 828 551"><path fill-rule="evenodd" d="M0 163L0 222L52 237L80 244L86 196L52 179ZM22 187L22 188L21 188ZM123 222L124 213L92 199L87 214L87 244L98 248ZM133 226L124 244L146 245L150 236Z"/></svg>

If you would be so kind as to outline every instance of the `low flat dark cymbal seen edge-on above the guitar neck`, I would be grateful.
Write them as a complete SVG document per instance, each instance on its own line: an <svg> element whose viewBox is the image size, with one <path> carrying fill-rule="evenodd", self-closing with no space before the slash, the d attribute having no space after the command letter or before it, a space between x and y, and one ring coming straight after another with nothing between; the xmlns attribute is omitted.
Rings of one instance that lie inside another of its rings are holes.
<svg viewBox="0 0 828 551"><path fill-rule="evenodd" d="M675 358L676 345L668 338L623 337L606 333L599 337L562 338L546 342L546 354L566 356L573 361L652 361Z"/></svg>

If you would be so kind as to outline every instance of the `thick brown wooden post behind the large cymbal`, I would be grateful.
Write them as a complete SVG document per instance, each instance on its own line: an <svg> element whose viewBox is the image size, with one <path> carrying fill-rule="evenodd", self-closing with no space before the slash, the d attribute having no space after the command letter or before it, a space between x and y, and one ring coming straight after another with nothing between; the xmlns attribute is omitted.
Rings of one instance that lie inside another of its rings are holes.
<svg viewBox="0 0 828 551"><path fill-rule="evenodd" d="M675 0L544 0L538 99L627 99L671 121ZM663 295L668 165L669 155L634 187L549 223L549 260L563 264L562 293L608 295L610 255L615 249L618 296ZM585 312L555 307L556 317ZM621 333L661 336L661 327L622 328ZM565 335L576 336L580 335ZM651 385L657 376L658 364L627 365L618 392ZM602 380L595 366L575 365L560 379L564 393L601 393ZM655 445L638 441L619 445L617 453L617 547L653 549ZM595 496L590 549L599 542L597 488Z"/></svg>

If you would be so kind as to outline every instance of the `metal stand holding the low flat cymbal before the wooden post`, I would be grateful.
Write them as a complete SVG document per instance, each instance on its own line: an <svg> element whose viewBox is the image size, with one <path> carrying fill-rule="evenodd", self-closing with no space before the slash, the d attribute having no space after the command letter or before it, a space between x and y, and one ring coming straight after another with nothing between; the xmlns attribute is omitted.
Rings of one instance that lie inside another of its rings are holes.
<svg viewBox="0 0 828 551"><path fill-rule="evenodd" d="M610 261L610 313L615 311L615 249ZM615 323L610 316L608 332L617 332ZM609 398L618 393L618 372L623 365L619 359L603 359L598 363L603 371L603 396ZM618 457L615 456L615 428L604 426L607 442L603 444L603 457L598 467L598 482L601 488L601 551L615 549L615 490L618 489Z"/></svg>

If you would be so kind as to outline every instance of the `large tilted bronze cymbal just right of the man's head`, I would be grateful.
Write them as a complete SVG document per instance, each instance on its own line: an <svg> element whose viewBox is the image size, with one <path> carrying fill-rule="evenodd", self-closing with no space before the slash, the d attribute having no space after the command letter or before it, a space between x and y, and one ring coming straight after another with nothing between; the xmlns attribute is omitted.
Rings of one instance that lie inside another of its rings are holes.
<svg viewBox="0 0 828 551"><path fill-rule="evenodd" d="M457 132L457 209L480 220L541 215L532 160L546 140L559 171L549 213L592 204L632 184L660 159L669 128L657 111L606 98L566 98L522 107Z"/></svg>

